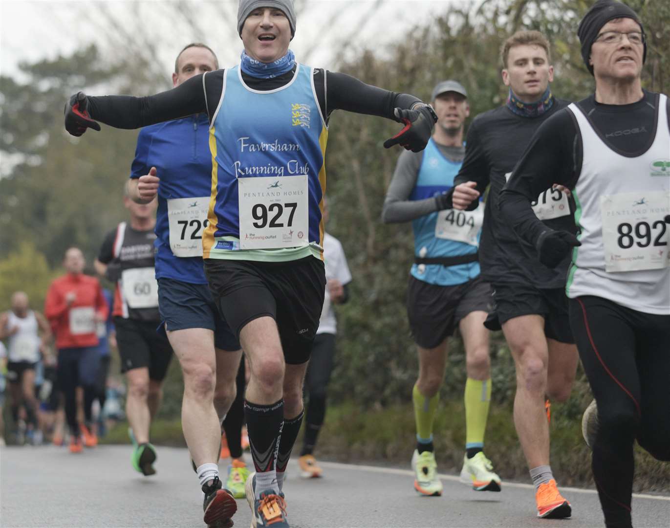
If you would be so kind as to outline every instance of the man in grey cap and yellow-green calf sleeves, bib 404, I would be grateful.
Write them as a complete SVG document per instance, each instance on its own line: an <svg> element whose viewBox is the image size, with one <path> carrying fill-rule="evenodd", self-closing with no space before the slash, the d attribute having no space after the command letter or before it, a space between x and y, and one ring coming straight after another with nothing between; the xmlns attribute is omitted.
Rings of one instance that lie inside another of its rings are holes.
<svg viewBox="0 0 670 528"><path fill-rule="evenodd" d="M415 263L407 288L407 316L419 349L419 379L412 391L417 448L412 456L414 488L441 495L433 448L433 421L447 358L447 338L458 327L466 349L466 454L461 477L478 491L500 491L500 477L484 455L491 394L488 330L490 286L480 278L477 247L483 211L454 211L446 192L465 154L463 130L470 115L468 94L455 80L433 88L438 123L423 152L403 152L389 186L383 220L412 221Z"/></svg>

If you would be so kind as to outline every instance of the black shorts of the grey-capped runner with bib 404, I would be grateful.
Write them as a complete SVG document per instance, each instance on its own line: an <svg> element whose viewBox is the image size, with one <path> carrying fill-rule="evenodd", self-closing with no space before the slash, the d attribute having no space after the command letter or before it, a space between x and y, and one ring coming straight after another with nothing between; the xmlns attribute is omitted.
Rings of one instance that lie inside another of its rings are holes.
<svg viewBox="0 0 670 528"><path fill-rule="evenodd" d="M421 348L435 348L454 335L462 318L488 312L491 289L481 277L454 286L440 286L409 277L407 317L412 336Z"/></svg>

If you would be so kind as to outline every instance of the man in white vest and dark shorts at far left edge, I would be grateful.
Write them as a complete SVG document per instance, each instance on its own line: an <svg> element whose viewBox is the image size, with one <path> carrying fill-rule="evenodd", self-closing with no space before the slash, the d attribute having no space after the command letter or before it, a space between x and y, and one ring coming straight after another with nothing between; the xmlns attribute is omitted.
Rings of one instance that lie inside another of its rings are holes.
<svg viewBox="0 0 670 528"><path fill-rule="evenodd" d="M30 310L28 296L23 291L13 293L11 310L0 315L0 339L7 339L7 381L14 425L19 427L19 409L23 407L33 434L39 431L36 366L48 357L51 338L48 321L40 312Z"/></svg>

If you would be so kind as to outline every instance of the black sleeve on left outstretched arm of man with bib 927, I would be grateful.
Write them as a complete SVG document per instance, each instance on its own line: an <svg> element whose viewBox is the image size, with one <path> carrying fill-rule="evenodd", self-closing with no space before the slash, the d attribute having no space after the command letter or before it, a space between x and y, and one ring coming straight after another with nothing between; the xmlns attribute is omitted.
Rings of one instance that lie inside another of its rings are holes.
<svg viewBox="0 0 670 528"><path fill-rule="evenodd" d="M205 112L206 109L202 75L196 75L172 90L147 97L88 97L90 117L117 129L138 129Z"/></svg>

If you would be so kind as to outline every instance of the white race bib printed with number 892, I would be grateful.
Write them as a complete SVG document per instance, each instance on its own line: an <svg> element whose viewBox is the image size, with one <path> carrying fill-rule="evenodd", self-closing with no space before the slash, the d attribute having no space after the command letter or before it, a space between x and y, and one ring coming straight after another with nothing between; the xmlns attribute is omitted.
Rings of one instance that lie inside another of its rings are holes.
<svg viewBox="0 0 670 528"><path fill-rule="evenodd" d="M605 271L670 266L670 191L627 192L600 197Z"/></svg>

